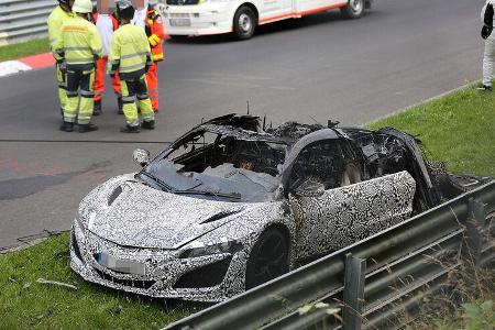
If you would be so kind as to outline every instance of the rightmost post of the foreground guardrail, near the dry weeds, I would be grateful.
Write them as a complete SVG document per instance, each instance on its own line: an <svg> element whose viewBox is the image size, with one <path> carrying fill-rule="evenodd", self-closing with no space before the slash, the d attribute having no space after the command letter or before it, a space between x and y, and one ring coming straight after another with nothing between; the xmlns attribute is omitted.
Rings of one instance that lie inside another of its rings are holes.
<svg viewBox="0 0 495 330"><path fill-rule="evenodd" d="M481 229L486 226L486 204L470 198L468 201L468 220L465 222L466 240L464 258L473 263L472 266L480 265L483 238Z"/></svg>

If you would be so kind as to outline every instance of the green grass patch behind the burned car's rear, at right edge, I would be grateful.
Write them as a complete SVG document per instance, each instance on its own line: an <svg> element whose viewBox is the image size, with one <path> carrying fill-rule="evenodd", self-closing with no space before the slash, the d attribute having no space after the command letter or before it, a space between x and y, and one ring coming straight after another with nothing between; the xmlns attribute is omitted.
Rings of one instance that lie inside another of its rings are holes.
<svg viewBox="0 0 495 330"><path fill-rule="evenodd" d="M429 158L454 173L495 176L495 94L475 88L415 107L372 123L417 135Z"/></svg>

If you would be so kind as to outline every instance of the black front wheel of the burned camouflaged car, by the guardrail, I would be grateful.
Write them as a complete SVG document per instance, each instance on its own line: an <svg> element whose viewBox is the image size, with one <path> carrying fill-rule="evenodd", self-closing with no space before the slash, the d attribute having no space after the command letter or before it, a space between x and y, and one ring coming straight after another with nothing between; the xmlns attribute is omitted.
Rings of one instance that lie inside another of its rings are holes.
<svg viewBox="0 0 495 330"><path fill-rule="evenodd" d="M289 271L289 242L278 229L265 230L248 258L245 289L256 287Z"/></svg>

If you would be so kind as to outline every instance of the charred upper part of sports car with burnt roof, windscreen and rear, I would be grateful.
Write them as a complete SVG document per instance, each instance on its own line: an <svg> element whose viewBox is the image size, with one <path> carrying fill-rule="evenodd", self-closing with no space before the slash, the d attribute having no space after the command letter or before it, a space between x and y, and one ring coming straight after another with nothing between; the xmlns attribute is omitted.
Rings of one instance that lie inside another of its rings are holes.
<svg viewBox="0 0 495 330"><path fill-rule="evenodd" d="M284 163L290 147L301 138L321 130L332 130L334 135L322 135L321 140L305 145L294 163L286 164L286 167L290 166L290 173L285 173L283 180ZM392 128L369 131L338 129L332 122L328 127L288 122L266 129L262 128L257 117L230 114L193 130L145 170L160 178L163 175L161 167L169 169L174 164L176 174L191 178L189 183L174 182L177 187L173 185L169 189L175 193L199 193L239 201L279 198L274 195L279 184L287 196L306 182L321 184L321 188L328 190L407 170L417 184L415 213L465 191L470 185L484 182L482 178L466 182L466 177L457 180L441 163L429 163L420 146L419 140ZM232 182L235 186L226 187L222 182ZM450 187L446 187L447 183ZM262 185L264 194L241 194L245 190L243 184L250 189L253 185ZM448 193L443 193L446 188Z"/></svg>

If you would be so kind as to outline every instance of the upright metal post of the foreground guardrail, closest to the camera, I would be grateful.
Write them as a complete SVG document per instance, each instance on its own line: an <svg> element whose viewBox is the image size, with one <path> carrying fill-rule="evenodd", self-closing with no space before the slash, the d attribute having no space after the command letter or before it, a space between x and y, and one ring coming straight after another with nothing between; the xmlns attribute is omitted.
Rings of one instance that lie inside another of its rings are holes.
<svg viewBox="0 0 495 330"><path fill-rule="evenodd" d="M366 261L345 254L343 330L360 330L364 302Z"/></svg>

